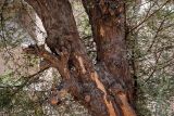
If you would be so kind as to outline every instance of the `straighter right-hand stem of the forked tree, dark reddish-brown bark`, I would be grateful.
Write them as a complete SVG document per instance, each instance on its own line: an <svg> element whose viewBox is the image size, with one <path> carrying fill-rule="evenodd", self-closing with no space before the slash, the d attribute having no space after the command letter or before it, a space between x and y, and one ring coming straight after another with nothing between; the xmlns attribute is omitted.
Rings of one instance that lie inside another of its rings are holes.
<svg viewBox="0 0 174 116"><path fill-rule="evenodd" d="M126 60L124 1L83 0L83 3L97 43L97 60L103 62L115 78L125 82L132 96L133 80Z"/></svg>

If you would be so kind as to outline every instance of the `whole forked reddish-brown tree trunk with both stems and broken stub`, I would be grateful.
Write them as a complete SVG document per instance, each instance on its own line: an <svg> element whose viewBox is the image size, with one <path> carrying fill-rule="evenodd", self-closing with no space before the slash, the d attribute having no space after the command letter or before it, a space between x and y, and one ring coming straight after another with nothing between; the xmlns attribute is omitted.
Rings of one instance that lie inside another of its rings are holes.
<svg viewBox="0 0 174 116"><path fill-rule="evenodd" d="M97 43L94 66L78 36L69 0L25 0L46 28L44 48L35 53L55 67L63 89L86 106L92 116L136 116L130 106L132 79L124 41L123 0L83 0Z"/></svg>

